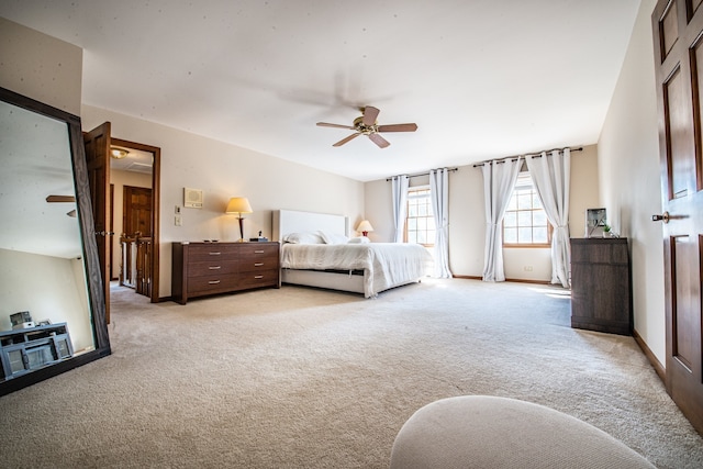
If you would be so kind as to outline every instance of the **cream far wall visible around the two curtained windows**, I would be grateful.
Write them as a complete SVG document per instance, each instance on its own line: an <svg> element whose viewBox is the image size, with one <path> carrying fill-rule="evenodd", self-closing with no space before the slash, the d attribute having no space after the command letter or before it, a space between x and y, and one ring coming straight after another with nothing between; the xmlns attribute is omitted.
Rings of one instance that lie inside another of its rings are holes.
<svg viewBox="0 0 703 469"><path fill-rule="evenodd" d="M411 179L411 186L419 183L427 183L427 178ZM391 182L386 179L367 182L365 193L365 215L376 230L369 237L377 242L392 241ZM583 237L585 209L599 206L598 152L594 145L572 153L570 199L571 236ZM459 167L449 175L449 267L455 276L481 277L483 273L484 213L480 168L472 165ZM506 278L551 280L549 248L506 248L503 255Z"/></svg>

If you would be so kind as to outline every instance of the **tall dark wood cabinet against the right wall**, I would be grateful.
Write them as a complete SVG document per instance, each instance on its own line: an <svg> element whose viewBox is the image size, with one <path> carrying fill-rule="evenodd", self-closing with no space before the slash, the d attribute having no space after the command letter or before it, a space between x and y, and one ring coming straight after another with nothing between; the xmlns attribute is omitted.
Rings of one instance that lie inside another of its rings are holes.
<svg viewBox="0 0 703 469"><path fill-rule="evenodd" d="M571 327L632 335L626 238L571 238Z"/></svg>

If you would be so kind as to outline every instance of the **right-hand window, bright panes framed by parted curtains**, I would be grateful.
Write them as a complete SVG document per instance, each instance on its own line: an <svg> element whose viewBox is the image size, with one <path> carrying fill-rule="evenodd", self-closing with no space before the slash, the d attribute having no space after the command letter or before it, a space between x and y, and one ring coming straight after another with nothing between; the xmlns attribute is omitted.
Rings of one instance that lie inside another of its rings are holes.
<svg viewBox="0 0 703 469"><path fill-rule="evenodd" d="M503 246L548 247L551 225L529 172L521 172L503 219Z"/></svg>

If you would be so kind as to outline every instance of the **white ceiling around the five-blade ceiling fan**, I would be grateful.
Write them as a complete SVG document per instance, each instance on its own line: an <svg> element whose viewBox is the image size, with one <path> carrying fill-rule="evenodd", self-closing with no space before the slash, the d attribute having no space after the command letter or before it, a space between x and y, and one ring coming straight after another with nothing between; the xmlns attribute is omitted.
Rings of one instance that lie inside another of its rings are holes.
<svg viewBox="0 0 703 469"><path fill-rule="evenodd" d="M640 0L3 0L83 52L86 104L360 181L596 143ZM358 108L378 148L350 132Z"/></svg>

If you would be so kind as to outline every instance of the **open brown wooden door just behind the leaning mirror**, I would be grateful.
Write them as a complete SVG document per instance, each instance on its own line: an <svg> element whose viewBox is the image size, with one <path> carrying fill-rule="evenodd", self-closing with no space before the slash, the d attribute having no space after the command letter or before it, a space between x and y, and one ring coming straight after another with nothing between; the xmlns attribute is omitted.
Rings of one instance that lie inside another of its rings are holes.
<svg viewBox="0 0 703 469"><path fill-rule="evenodd" d="M96 243L100 257L100 271L102 273L103 289L105 292L105 319L110 323L110 272L112 259L110 258L110 122L83 134L86 145L86 163L88 165L88 180L92 211L96 223Z"/></svg>

